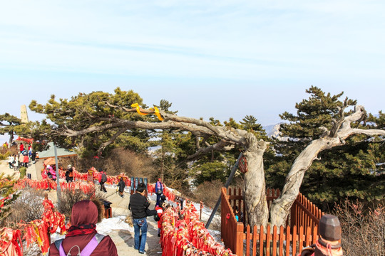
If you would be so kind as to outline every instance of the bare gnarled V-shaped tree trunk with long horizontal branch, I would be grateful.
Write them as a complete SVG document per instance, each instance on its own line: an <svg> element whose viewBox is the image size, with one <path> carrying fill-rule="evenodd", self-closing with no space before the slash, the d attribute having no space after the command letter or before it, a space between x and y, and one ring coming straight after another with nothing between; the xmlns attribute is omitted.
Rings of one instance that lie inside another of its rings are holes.
<svg viewBox="0 0 385 256"><path fill-rule="evenodd" d="M123 108L123 110L126 112L136 111L135 109L125 108ZM153 113L153 111L149 110L141 111ZM257 141L254 134L245 130L214 126L210 124L210 122L190 117L180 117L175 114L165 113L162 110L159 112L163 117L162 122L143 122L119 119L116 117L98 117L98 122L103 122L102 125L87 127L80 131L68 129L64 126L55 132L66 137L81 137L85 134L102 132L110 129L120 129L121 131L136 128L180 129L191 132L197 137L207 138L215 136L220 138L219 142L216 144L206 146L203 144L202 147L200 147L199 141L197 141L197 151L195 154L188 157L190 160L195 159L195 157L200 156L200 154L207 154L212 150L226 150L230 149L231 146L240 146L244 151L248 164L243 194L249 223L250 225L267 225L269 220L269 209L266 201L265 171L262 158L267 143L262 140ZM289 214L289 209L299 193L299 188L304 178L304 172L309 169L309 166L312 165L314 159L317 159L317 155L320 151L331 148L332 146L344 144L344 139L351 136L351 134L367 134L369 136L385 135L385 131L379 129L351 129L351 122L359 122L365 113L363 107L356 106L353 114L348 117L343 117L342 115L338 122L335 123L332 132L326 131L320 139L314 140L301 154L299 154L292 165L292 169L287 175L281 196L272 203L270 210L270 222L272 225L284 225L287 215ZM111 141L114 139L116 138L113 137ZM205 139L203 142L205 142Z"/></svg>

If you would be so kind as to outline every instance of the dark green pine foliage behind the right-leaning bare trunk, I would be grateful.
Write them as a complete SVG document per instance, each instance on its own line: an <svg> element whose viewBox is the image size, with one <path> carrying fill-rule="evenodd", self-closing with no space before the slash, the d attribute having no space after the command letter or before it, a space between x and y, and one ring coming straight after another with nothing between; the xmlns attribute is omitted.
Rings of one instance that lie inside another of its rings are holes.
<svg viewBox="0 0 385 256"><path fill-rule="evenodd" d="M270 187L282 188L294 159L313 139L322 135L320 127L330 129L340 107L356 104L355 100L347 98L339 100L343 92L330 95L311 87L307 93L310 94L309 99L296 104L297 114L284 112L280 115L284 120L280 131L287 141L274 142L276 155L269 164L265 164ZM383 118L383 115L379 118L370 116L371 124L359 128L381 129L384 127ZM324 207L346 197L364 201L382 200L385 195L385 176L381 171L384 168L381 163L385 163L384 151L384 138L349 137L344 146L319 153L319 160L314 161L305 173L300 191L312 202Z"/></svg>

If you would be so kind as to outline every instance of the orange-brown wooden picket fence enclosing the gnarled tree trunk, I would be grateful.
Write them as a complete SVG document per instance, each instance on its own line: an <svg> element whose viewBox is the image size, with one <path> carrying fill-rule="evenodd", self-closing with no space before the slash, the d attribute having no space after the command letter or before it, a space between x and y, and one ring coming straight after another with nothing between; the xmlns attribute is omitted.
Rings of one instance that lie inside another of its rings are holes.
<svg viewBox="0 0 385 256"><path fill-rule="evenodd" d="M267 204L279 196L279 190L267 190ZM301 193L297 196L290 210L287 224L267 228L247 224L245 203L240 188L222 188L221 196L221 234L226 247L233 253L242 255L296 255L302 248L312 245L318 239L319 219L324 213L314 206ZM233 212L234 206L244 213L242 222L237 222Z"/></svg>

